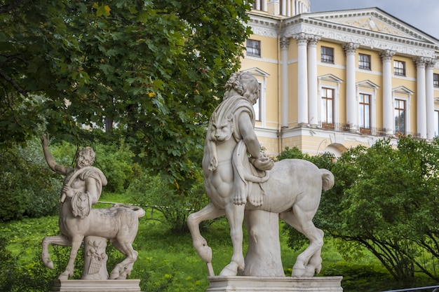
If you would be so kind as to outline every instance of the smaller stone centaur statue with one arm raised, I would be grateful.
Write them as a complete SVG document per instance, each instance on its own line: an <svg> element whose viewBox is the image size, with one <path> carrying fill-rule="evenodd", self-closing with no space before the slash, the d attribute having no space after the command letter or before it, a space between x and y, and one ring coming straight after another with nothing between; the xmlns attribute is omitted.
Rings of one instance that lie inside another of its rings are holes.
<svg viewBox="0 0 439 292"><path fill-rule="evenodd" d="M103 237L109 239L116 249L126 258L114 267L110 279L126 279L133 270L137 259L137 251L133 249L133 241L137 235L138 218L145 212L139 207L128 204L116 204L107 209L93 209L101 195L102 186L107 185L104 174L93 167L95 152L90 147L83 148L76 155L76 167L58 165L48 148L48 137L41 137L44 157L50 169L65 176L60 197L59 226L62 235L44 237L41 259L46 267L53 269L53 262L48 253L48 244L72 246L69 262L65 271L58 279L68 279L74 272L74 260L84 237ZM85 272L95 273L100 270L96 266L97 260L105 258L105 254L98 254L99 242L89 242L92 249L90 267ZM107 261L105 260L105 263ZM106 277L107 270L104 267Z"/></svg>

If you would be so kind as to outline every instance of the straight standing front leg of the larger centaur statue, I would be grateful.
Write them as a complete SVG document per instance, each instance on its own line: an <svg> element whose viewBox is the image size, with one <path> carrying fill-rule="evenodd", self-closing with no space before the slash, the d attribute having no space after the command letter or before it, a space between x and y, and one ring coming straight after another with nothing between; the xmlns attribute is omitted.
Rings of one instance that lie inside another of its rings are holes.
<svg viewBox="0 0 439 292"><path fill-rule="evenodd" d="M231 256L229 265L222 269L220 276L236 276L238 270L244 270L243 256L243 220L245 204L234 204L230 202L226 205L226 216L230 225L231 244L234 247L234 253Z"/></svg>

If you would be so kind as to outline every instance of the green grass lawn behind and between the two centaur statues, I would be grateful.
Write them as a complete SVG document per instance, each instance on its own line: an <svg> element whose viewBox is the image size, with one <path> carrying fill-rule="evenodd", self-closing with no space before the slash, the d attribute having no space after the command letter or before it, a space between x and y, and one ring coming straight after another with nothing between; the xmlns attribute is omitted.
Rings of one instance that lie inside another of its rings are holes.
<svg viewBox="0 0 439 292"><path fill-rule="evenodd" d="M123 195L102 195L101 199L106 202L128 202ZM108 206L108 204L97 204L97 207ZM161 214L158 211L151 212L151 209L146 211L147 215L140 218L139 231L134 242L139 257L130 278L141 279L140 285L144 292L205 291L208 288L207 269L192 246L191 235L170 232L167 225L160 221ZM46 270L38 267L41 266L38 257L41 253L41 239L44 236L58 234L58 216L25 218L22 221L0 223L0 234L8 240L7 251L17 259L16 273L31 274L31 279L45 277L41 281L51 281L56 277L56 272L44 274ZM288 247L285 233L281 231L280 234L283 265L285 274L289 275L299 252L294 252ZM215 273L219 274L231 258L229 225L224 218L219 219L207 230L202 231L202 235L212 247L212 265ZM246 242L245 238L244 251L247 247ZM340 256L334 244L334 240L325 240L322 252L323 270L319 275L344 276L342 286L345 292L372 292L400 288L373 256L365 253L365 256L346 260ZM64 268L69 248L51 246L49 250L55 268L58 270ZM121 254L114 249L109 251L108 270L111 271L112 266L121 260ZM57 262L57 259L62 263ZM76 270L81 270L81 263L77 263L76 266ZM22 279L22 276L19 277ZM80 277L79 273L76 277Z"/></svg>

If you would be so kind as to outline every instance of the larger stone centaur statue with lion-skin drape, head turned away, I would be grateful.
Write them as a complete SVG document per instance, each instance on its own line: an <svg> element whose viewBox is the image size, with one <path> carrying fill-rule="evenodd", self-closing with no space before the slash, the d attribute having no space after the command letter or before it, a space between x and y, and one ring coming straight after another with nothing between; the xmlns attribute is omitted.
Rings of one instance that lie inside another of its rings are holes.
<svg viewBox="0 0 439 292"><path fill-rule="evenodd" d="M203 172L210 204L188 218L194 248L208 263L209 276L214 276L212 249L201 236L199 223L227 216L233 255L219 275L234 276L245 267L244 211L269 211L279 214L309 239L309 246L297 257L292 276L311 277L320 271L323 246L323 231L312 220L322 189L332 188L334 176L306 160L273 163L266 158L260 152L254 131L252 106L259 97L257 80L251 74L237 72L232 74L225 89L222 103L212 113L205 138Z"/></svg>

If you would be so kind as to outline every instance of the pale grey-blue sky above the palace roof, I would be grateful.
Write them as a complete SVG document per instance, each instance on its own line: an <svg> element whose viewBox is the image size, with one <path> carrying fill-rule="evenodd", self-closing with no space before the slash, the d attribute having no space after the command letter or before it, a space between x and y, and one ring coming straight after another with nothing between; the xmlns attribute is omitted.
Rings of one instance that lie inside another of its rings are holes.
<svg viewBox="0 0 439 292"><path fill-rule="evenodd" d="M378 7L439 39L439 0L310 0L311 12Z"/></svg>

